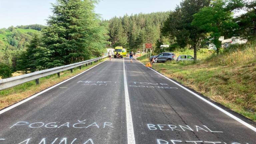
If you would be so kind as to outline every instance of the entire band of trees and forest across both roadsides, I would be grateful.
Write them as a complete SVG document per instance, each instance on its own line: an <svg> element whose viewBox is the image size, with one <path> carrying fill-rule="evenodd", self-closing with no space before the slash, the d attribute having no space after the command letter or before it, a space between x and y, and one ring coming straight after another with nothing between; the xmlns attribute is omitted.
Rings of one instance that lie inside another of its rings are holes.
<svg viewBox="0 0 256 144"><path fill-rule="evenodd" d="M173 11L126 14L110 20L101 20L94 12L98 2L57 0L47 26L1 29L0 36L9 36L5 43L0 41L0 46L5 45L0 50L2 78L14 71L29 73L101 56L106 47L141 51L144 43L153 43L156 52L187 47L194 49L196 60L197 50L206 43L213 43L219 53L220 36L256 37L256 1L252 0L183 0ZM234 11L241 9L246 12L234 17ZM41 31L24 34L17 28ZM170 47L160 48L163 44ZM3 75L7 69L10 72Z"/></svg>

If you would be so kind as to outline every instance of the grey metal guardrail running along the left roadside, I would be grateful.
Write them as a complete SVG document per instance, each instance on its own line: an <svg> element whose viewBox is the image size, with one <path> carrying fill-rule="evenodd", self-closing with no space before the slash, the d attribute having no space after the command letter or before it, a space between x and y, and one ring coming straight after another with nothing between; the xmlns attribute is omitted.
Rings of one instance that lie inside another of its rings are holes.
<svg viewBox="0 0 256 144"><path fill-rule="evenodd" d="M69 65L65 65L65 66L55 67L55 68L41 70L41 71L29 73L29 74L24 74L24 75L20 75L20 76L2 79L2 80L0 80L0 90L11 88L13 86L20 85L20 84L23 84L23 83L26 83L26 82L29 82L32 80L36 80L36 84L39 84L39 78L42 78L42 77L45 77L48 75L52 75L55 73L57 73L58 77L60 77L60 72L62 72L62 71L70 69L70 71L72 73L73 68L79 67L81 69L82 65L87 66L88 64L92 64L92 62L101 61L102 59L104 59L106 57L107 56L98 57L98 58L94 58L94 59L90 59L90 60L86 60L86 61L82 61L82 62L78 62L78 63L73 63L73 64L69 64Z"/></svg>

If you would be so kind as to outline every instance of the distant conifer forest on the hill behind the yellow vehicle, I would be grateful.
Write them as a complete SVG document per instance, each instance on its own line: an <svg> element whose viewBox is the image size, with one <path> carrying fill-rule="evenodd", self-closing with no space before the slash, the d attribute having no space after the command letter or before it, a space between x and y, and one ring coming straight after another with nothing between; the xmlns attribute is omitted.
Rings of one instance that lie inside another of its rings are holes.
<svg viewBox="0 0 256 144"><path fill-rule="evenodd" d="M160 27L167 19L169 12L135 14L113 17L109 23L108 46L123 46L130 50L140 50L144 43L156 44L160 39Z"/></svg>

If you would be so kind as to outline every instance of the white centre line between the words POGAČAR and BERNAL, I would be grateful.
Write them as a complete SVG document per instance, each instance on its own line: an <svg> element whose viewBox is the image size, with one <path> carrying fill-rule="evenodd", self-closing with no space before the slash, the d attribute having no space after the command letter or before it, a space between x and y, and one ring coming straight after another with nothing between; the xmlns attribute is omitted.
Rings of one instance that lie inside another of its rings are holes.
<svg viewBox="0 0 256 144"><path fill-rule="evenodd" d="M124 59L123 59L124 63ZM124 92L125 92L125 108L126 108L126 127L127 127L127 144L135 144L135 137L132 124L132 112L127 87L125 66L124 66Z"/></svg>

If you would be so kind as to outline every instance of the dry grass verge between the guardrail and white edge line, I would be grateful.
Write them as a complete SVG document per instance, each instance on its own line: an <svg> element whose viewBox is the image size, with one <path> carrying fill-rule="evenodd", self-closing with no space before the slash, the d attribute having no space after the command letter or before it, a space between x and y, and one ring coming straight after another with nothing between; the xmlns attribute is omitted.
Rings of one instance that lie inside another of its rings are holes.
<svg viewBox="0 0 256 144"><path fill-rule="evenodd" d="M98 63L100 62L93 63L92 65L88 65L87 67L83 66L81 70L79 68L73 69L73 73L70 73L70 70L63 71L60 73L60 78L57 77L57 74L40 78L38 86L36 85L35 81L30 81L6 90L2 90L0 91L0 109L12 105L18 101L21 101L72 76L75 76L85 71L86 69L95 66Z"/></svg>

